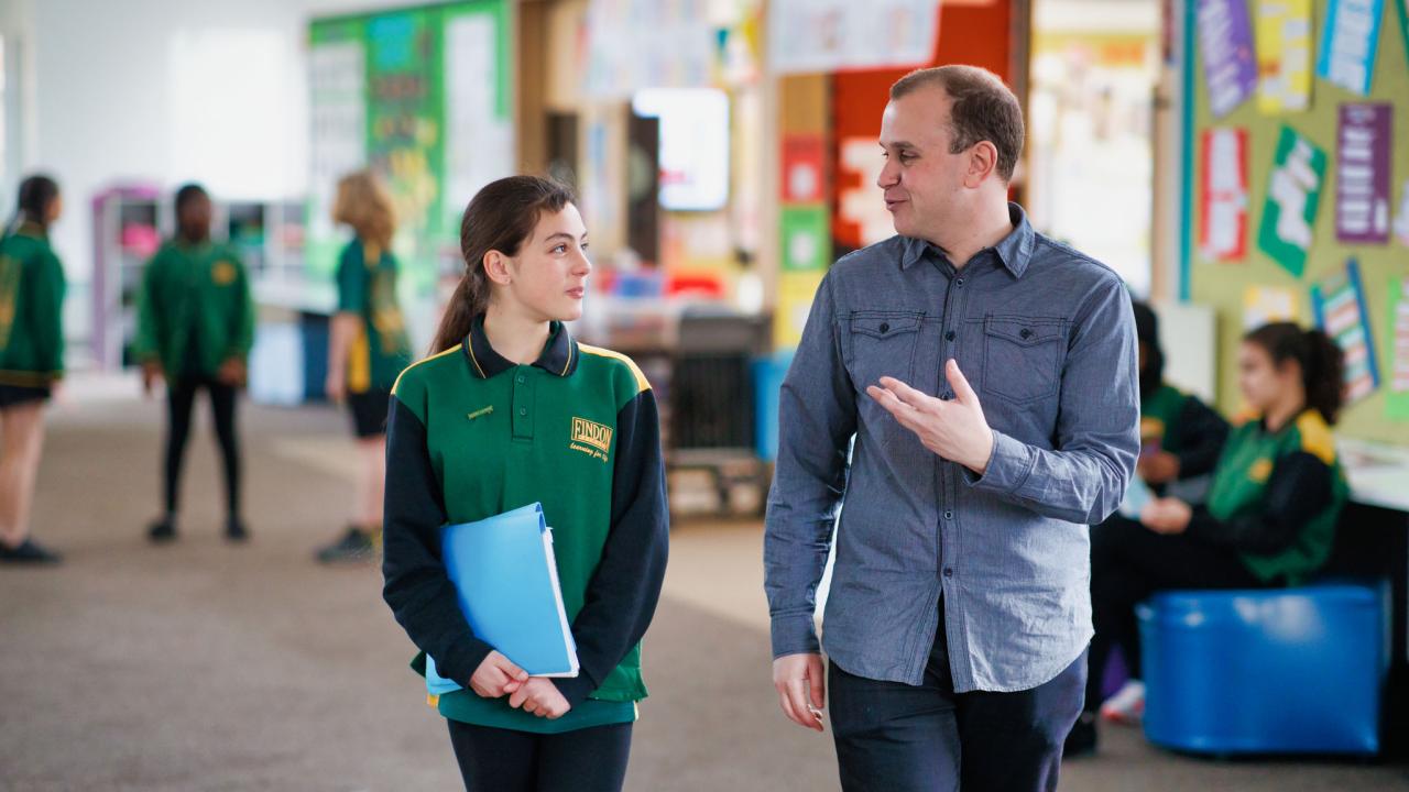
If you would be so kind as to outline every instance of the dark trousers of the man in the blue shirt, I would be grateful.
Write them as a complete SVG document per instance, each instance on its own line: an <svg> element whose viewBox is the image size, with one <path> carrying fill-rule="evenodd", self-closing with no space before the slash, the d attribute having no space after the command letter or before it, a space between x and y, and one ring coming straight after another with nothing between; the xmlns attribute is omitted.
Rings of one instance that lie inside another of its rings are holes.
<svg viewBox="0 0 1409 792"><path fill-rule="evenodd" d="M845 792L1057 789L1061 748L1081 713L1086 658L1014 693L955 693L944 616L919 686L828 667L831 729Z"/></svg>

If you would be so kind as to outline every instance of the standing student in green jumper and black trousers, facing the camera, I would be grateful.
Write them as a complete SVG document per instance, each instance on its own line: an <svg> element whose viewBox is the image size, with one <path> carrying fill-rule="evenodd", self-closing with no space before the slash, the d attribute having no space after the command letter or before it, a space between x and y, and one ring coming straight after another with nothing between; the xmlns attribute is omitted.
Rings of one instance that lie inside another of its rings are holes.
<svg viewBox="0 0 1409 792"><path fill-rule="evenodd" d="M211 242L210 220L210 196L201 186L176 192L176 237L147 264L138 297L134 354L142 364L142 386L151 393L158 379L166 380L165 513L148 530L155 543L176 538L182 462L200 390L210 393L224 464L225 538L248 538L240 513L235 402L254 342L254 299L240 256Z"/></svg>

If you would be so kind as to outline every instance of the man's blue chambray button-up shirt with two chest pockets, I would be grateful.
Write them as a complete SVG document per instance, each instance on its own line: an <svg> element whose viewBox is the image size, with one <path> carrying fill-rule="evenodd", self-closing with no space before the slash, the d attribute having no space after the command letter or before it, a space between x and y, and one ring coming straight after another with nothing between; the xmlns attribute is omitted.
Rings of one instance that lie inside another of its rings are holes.
<svg viewBox="0 0 1409 792"><path fill-rule="evenodd" d="M919 685L940 605L961 693L1036 688L1091 641L1088 526L1116 510L1140 450L1130 296L1009 211L1013 233L962 269L892 237L840 259L817 289L782 386L768 499L774 657L819 650L834 527L823 647L851 674ZM889 375L952 399L950 358L993 430L982 476L865 393Z"/></svg>

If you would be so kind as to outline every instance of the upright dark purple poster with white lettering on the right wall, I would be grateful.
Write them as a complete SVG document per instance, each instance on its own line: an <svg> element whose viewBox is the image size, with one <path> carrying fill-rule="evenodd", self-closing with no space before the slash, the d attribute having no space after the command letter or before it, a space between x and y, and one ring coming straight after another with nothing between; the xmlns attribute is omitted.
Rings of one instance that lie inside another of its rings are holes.
<svg viewBox="0 0 1409 792"><path fill-rule="evenodd" d="M1389 104L1341 104L1336 134L1336 238L1389 242Z"/></svg>

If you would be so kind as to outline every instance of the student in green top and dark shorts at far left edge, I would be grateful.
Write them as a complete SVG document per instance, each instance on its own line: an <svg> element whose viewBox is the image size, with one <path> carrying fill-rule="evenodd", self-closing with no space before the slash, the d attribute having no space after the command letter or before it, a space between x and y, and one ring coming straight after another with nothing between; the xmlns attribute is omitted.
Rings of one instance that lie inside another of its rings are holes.
<svg viewBox="0 0 1409 792"><path fill-rule="evenodd" d="M30 176L17 203L0 240L0 562L56 564L56 552L30 538L30 506L44 403L63 376L63 265L49 248L63 202L54 179Z"/></svg>

